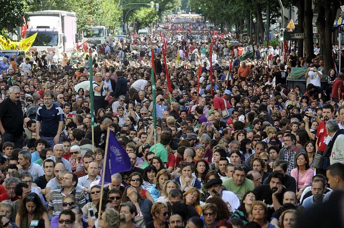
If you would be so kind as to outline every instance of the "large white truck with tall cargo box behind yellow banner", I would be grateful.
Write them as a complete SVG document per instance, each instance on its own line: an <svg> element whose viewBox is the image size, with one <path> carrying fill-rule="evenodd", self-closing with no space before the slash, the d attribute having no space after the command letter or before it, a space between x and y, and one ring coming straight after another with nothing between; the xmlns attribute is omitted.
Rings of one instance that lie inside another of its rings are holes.
<svg viewBox="0 0 344 228"><path fill-rule="evenodd" d="M58 58L62 58L61 52L67 52L70 56L76 48L76 17L74 12L61 10L44 10L28 12L29 22L25 36L35 33L37 37L33 42L32 51L56 51Z"/></svg>

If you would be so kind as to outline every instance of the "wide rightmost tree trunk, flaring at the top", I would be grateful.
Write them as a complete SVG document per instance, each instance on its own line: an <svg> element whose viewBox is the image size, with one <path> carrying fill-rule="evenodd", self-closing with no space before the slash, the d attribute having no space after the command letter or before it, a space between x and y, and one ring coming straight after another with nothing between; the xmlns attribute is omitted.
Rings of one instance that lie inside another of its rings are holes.
<svg viewBox="0 0 344 228"><path fill-rule="evenodd" d="M318 0L314 4L318 5L316 25L320 32L320 59L324 61L324 73L327 73L333 68L332 29L337 10L341 3L338 0L325 0L324 2Z"/></svg>

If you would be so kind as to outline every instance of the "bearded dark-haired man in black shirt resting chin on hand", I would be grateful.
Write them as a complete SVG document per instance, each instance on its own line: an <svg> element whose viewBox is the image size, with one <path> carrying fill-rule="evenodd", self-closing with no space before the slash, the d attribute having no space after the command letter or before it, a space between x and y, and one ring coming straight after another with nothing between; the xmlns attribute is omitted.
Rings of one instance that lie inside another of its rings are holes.
<svg viewBox="0 0 344 228"><path fill-rule="evenodd" d="M269 184L256 187L253 191L257 194L256 200L263 201L268 207L267 219L270 221L272 213L281 207L283 195L287 191L283 187L284 175L281 172L273 171L267 178Z"/></svg>

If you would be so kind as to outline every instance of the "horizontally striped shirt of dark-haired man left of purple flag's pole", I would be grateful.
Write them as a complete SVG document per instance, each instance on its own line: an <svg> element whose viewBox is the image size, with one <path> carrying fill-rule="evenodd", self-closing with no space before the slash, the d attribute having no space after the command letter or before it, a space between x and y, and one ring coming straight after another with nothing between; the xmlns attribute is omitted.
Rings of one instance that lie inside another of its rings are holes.
<svg viewBox="0 0 344 228"><path fill-rule="evenodd" d="M51 192L48 209L53 211L53 216L60 215L60 213L63 211L62 202L63 202L63 198L66 196L63 193L63 189L64 188L56 189ZM86 204L84 191L73 189L71 192L69 192L69 194L72 194L75 196L77 205L80 208L82 208Z"/></svg>

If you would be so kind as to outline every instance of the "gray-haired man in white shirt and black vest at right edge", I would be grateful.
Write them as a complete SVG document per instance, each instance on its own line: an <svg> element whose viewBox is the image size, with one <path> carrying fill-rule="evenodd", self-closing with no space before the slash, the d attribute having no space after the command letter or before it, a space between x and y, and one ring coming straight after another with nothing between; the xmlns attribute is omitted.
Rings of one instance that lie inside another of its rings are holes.
<svg viewBox="0 0 344 228"><path fill-rule="evenodd" d="M336 120L327 120L325 129L331 137L327 151L331 151L330 164L332 165L344 160L344 130L339 129ZM327 138L327 140L329 139Z"/></svg>

